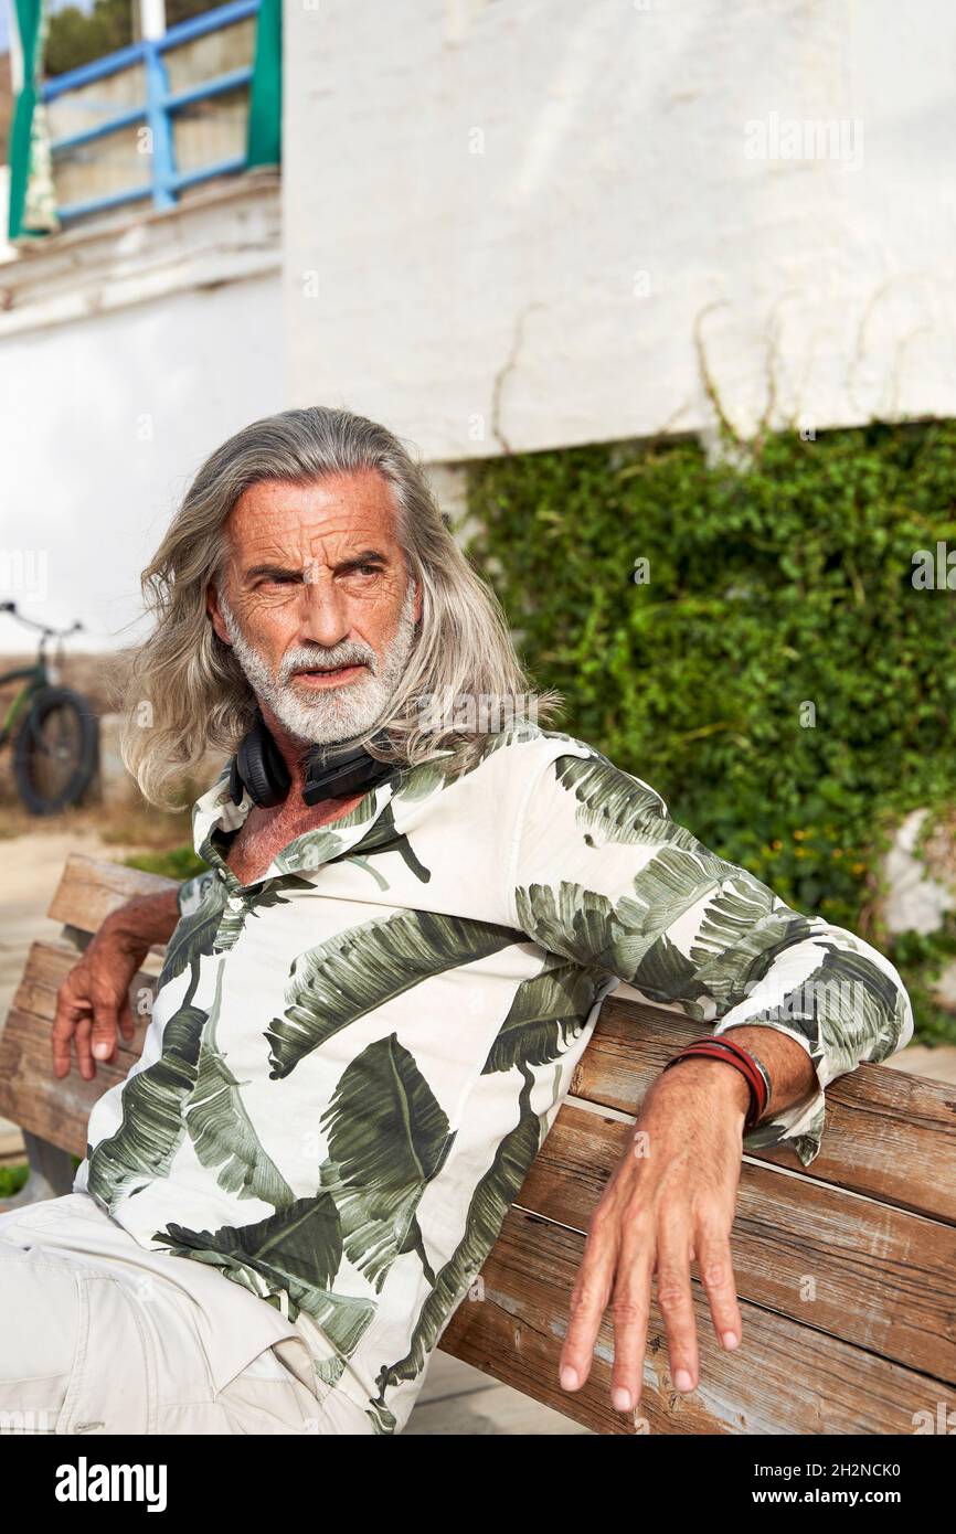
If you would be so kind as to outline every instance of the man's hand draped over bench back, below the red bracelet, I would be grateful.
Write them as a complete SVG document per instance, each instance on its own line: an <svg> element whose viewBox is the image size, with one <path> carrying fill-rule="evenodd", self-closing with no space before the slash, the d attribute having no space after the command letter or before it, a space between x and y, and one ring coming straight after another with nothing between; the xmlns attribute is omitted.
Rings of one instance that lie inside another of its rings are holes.
<svg viewBox="0 0 956 1534"><path fill-rule="evenodd" d="M721 1345L738 1345L743 1322L730 1226L749 1101L744 1077L720 1060L683 1060L646 1094L628 1149L591 1216L560 1359L565 1390L588 1379L598 1327L611 1305L611 1399L618 1411L637 1411L652 1275L668 1328L671 1378L677 1390L697 1387L694 1259Z"/></svg>

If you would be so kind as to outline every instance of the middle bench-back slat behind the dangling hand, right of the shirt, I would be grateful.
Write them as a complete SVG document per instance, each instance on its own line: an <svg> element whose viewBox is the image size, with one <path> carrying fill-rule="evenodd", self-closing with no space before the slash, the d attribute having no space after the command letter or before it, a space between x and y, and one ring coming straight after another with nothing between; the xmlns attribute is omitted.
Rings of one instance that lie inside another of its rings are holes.
<svg viewBox="0 0 956 1534"><path fill-rule="evenodd" d="M565 1103L516 1203L586 1232L629 1135ZM746 1161L730 1236L740 1299L956 1385L956 1229Z"/></svg>

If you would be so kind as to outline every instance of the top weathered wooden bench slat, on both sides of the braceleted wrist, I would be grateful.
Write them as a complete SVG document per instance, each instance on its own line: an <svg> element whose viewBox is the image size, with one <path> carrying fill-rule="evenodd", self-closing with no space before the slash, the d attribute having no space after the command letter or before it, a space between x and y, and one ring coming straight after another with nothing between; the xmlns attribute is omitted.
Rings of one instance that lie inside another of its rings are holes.
<svg viewBox="0 0 956 1534"><path fill-rule="evenodd" d="M574 1074L574 1097L635 1111L666 1060L706 1032L678 1012L608 997ZM822 1183L956 1221L956 1088L861 1065L827 1086L827 1121L809 1167L789 1149L747 1152Z"/></svg>

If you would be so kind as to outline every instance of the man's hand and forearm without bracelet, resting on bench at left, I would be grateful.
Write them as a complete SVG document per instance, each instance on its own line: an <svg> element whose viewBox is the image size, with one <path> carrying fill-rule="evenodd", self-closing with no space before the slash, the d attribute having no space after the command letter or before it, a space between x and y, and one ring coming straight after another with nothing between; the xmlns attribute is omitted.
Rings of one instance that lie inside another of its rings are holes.
<svg viewBox="0 0 956 1534"><path fill-rule="evenodd" d="M100 931L57 991L54 1074L69 1074L71 1039L80 1075L92 1081L95 1060L114 1060L120 1031L134 1037L129 986L153 943L172 937L180 908L176 891L129 900L107 916Z"/></svg>

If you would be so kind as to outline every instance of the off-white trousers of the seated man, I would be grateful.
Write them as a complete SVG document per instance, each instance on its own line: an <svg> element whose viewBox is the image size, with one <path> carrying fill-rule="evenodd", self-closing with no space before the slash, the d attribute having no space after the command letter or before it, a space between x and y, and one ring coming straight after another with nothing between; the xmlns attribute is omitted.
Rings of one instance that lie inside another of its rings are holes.
<svg viewBox="0 0 956 1534"><path fill-rule="evenodd" d="M0 1213L0 1434L342 1431L272 1347L216 1390L196 1305L155 1269Z"/></svg>

